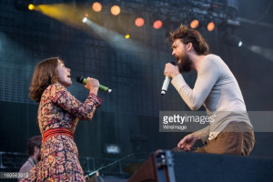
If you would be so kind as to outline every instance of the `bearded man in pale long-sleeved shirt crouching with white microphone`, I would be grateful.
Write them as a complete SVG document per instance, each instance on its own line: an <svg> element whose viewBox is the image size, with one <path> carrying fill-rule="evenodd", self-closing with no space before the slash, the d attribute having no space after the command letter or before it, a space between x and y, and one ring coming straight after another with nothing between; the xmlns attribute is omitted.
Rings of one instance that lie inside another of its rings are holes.
<svg viewBox="0 0 273 182"><path fill-rule="evenodd" d="M205 146L196 152L248 156L255 139L236 78L219 56L208 54L208 45L196 30L180 25L169 40L178 64L166 64L164 75L172 78L172 85L191 110L203 105L209 116L215 115L214 122L185 136L177 147L188 151L202 139ZM190 70L197 71L193 89L180 74Z"/></svg>

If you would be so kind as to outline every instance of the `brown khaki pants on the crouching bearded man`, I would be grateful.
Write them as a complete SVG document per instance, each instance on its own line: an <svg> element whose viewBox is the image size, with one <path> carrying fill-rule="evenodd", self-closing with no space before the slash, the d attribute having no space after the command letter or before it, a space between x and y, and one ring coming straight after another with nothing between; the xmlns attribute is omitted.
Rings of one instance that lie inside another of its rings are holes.
<svg viewBox="0 0 273 182"><path fill-rule="evenodd" d="M194 152L248 156L254 147L255 137L251 126L243 122L231 123L217 138L206 140L204 147Z"/></svg>

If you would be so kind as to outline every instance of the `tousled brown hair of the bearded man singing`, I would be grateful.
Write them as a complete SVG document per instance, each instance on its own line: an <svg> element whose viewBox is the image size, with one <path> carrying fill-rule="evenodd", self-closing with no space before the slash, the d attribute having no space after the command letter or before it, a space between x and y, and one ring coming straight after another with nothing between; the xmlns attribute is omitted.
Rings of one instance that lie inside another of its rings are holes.
<svg viewBox="0 0 273 182"><path fill-rule="evenodd" d="M187 27L187 25L180 25L177 30L170 32L168 37L169 41L174 43L177 39L180 39L183 44L187 45L192 43L197 55L208 55L209 46L204 40L203 36L192 28Z"/></svg>

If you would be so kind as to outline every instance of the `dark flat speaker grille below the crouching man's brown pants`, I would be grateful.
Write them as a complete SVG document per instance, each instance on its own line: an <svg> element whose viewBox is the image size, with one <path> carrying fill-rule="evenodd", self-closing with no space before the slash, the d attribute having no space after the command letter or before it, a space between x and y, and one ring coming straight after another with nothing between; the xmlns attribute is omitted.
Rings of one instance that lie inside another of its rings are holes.
<svg viewBox="0 0 273 182"><path fill-rule="evenodd" d="M273 159L173 152L177 182L273 181Z"/></svg>

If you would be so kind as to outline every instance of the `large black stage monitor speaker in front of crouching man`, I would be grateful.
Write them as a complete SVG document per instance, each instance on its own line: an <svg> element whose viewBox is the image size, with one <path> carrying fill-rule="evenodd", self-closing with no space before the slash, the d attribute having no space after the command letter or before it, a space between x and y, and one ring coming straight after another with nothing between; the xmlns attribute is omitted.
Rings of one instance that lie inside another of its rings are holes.
<svg viewBox="0 0 273 182"><path fill-rule="evenodd" d="M273 182L273 159L163 151L128 182Z"/></svg>

